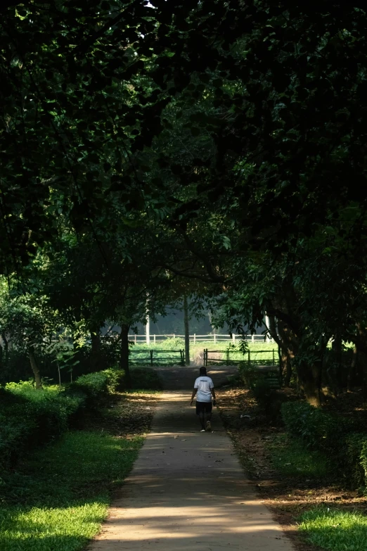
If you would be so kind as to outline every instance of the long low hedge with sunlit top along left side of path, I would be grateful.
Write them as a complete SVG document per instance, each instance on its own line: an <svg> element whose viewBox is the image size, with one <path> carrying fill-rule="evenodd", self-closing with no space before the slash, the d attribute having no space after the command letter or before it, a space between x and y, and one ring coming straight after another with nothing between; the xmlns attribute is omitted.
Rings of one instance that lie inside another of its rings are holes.
<svg viewBox="0 0 367 551"><path fill-rule="evenodd" d="M80 377L65 390L51 386L35 391L25 381L0 388L0 469L14 467L25 452L60 436L83 407L100 403L113 391L122 375L106 369Z"/></svg>

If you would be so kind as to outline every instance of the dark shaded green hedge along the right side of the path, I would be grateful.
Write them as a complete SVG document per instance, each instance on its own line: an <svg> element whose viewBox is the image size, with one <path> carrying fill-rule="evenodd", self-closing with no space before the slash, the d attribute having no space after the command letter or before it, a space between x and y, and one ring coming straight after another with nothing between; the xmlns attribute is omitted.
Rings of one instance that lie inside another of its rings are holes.
<svg viewBox="0 0 367 551"><path fill-rule="evenodd" d="M354 486L367 486L367 434L356 432L352 419L323 412L307 402L283 403L281 412L290 434L328 454Z"/></svg>

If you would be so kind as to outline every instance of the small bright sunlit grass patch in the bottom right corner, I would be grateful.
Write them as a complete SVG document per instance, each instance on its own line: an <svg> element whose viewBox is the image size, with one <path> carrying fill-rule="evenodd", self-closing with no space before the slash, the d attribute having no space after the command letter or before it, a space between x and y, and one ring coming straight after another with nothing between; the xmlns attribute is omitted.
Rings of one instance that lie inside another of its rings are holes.
<svg viewBox="0 0 367 551"><path fill-rule="evenodd" d="M366 551L367 517L358 512L315 507L298 519L309 543L332 551Z"/></svg>

